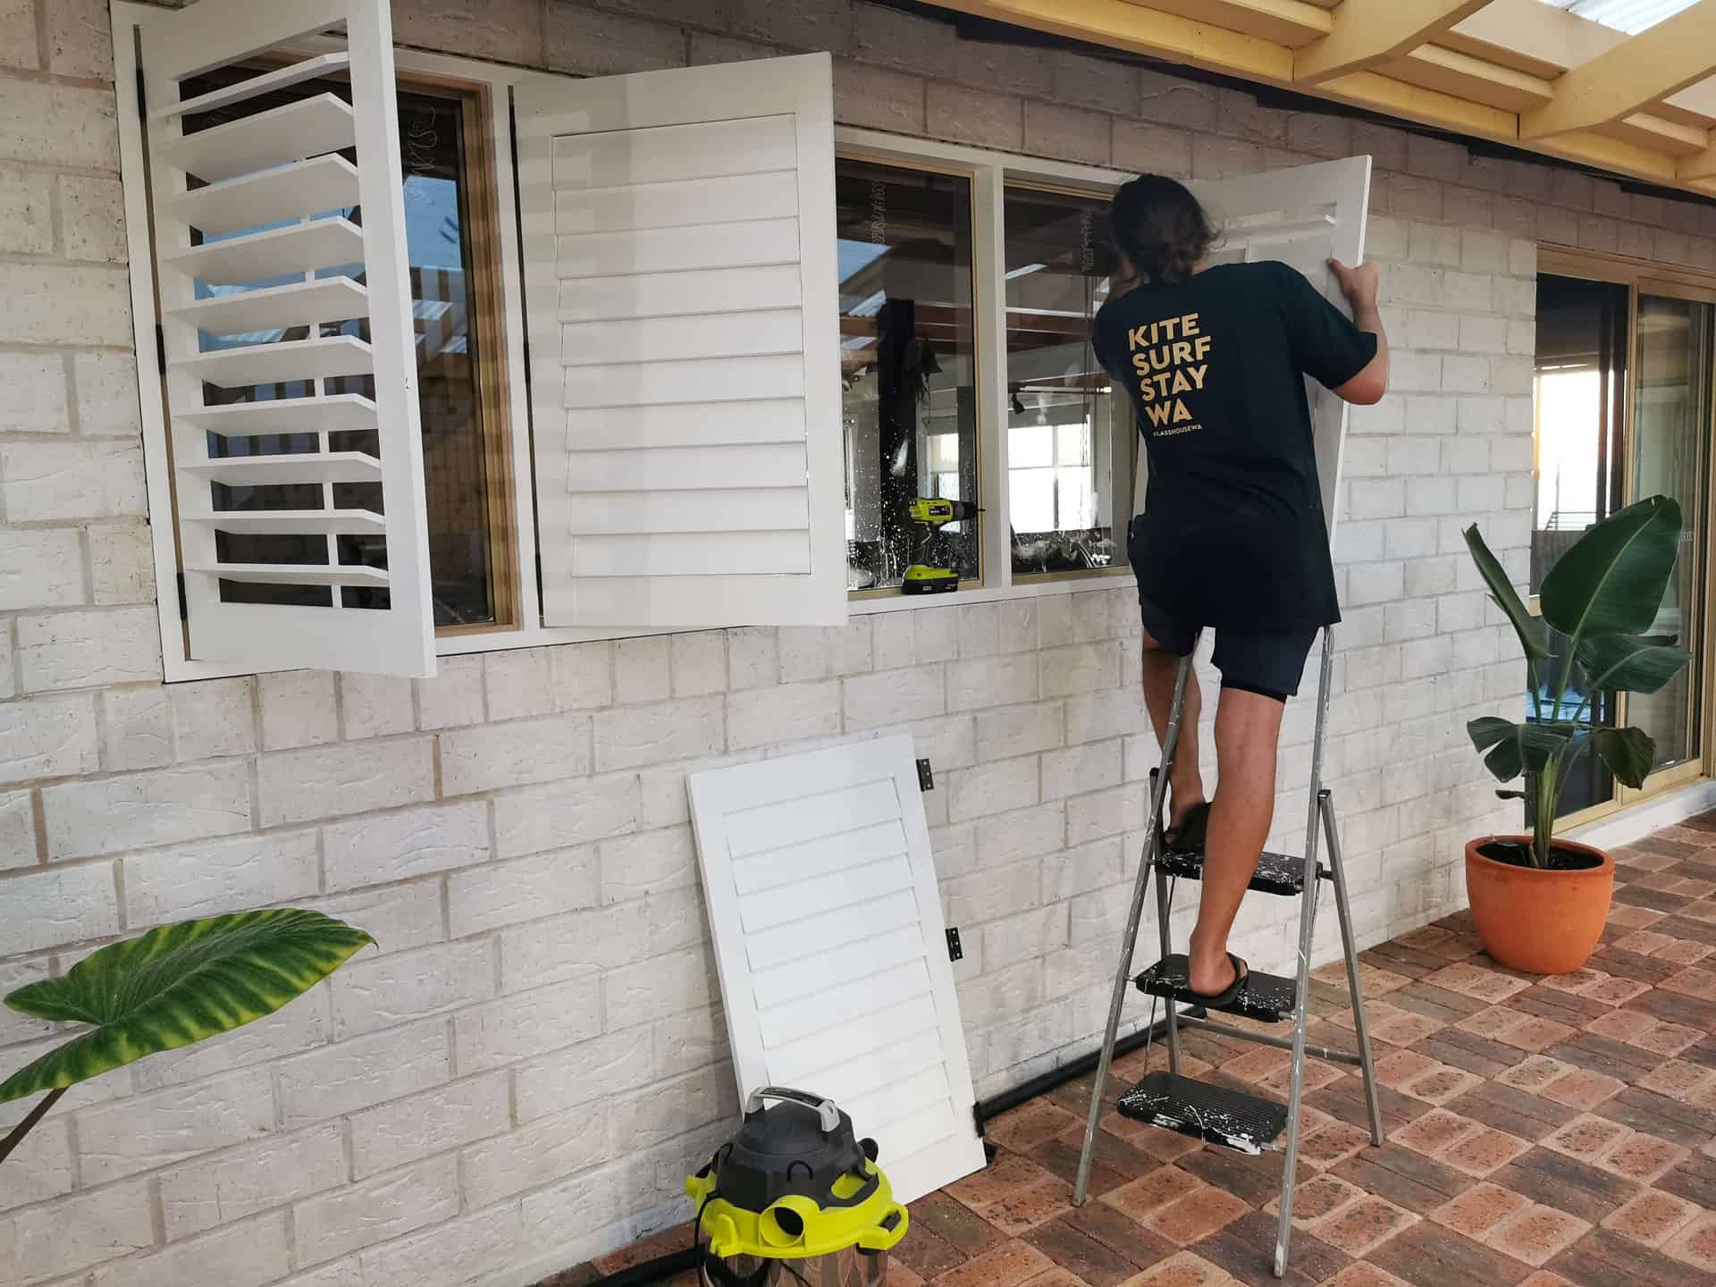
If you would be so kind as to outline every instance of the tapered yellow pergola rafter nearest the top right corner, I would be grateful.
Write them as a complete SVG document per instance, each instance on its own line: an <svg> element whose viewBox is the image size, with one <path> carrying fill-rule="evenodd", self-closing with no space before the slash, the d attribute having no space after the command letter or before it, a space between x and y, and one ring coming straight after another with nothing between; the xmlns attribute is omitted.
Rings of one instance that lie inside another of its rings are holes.
<svg viewBox="0 0 1716 1287"><path fill-rule="evenodd" d="M1606 125L1711 72L1716 72L1716 0L1697 0L1555 81L1555 96L1519 118L1519 136L1544 139Z"/></svg>

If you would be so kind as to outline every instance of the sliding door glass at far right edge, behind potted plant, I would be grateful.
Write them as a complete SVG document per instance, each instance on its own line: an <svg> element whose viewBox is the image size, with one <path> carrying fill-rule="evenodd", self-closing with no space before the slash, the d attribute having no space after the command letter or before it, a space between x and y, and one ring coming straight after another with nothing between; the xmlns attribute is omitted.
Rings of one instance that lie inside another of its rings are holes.
<svg viewBox="0 0 1716 1287"><path fill-rule="evenodd" d="M1704 583L1706 436L1711 426L1709 304L1639 295L1639 374L1632 427L1632 498L1680 501L1680 559L1651 626L1694 654L1690 666L1654 693L1627 698L1627 722L1656 738L1656 764L1668 767L1699 753L1697 676L1704 640L1697 628L1697 587Z"/></svg>

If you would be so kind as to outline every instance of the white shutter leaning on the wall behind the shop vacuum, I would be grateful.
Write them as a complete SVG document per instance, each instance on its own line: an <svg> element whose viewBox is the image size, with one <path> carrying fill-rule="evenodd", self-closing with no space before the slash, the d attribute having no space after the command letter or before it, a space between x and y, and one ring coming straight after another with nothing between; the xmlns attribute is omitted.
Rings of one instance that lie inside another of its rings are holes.
<svg viewBox="0 0 1716 1287"><path fill-rule="evenodd" d="M740 1098L825 1095L899 1201L983 1165L909 736L692 774Z"/></svg>

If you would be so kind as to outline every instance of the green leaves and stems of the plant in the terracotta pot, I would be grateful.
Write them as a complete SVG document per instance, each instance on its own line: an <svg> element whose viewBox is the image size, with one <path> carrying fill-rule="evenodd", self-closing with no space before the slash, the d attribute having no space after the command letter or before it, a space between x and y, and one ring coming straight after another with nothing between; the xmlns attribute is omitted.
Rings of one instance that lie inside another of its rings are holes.
<svg viewBox="0 0 1716 1287"><path fill-rule="evenodd" d="M1555 815L1574 764L1587 750L1627 786L1644 786L1656 764L1656 743L1637 728L1606 728L1591 721L1598 693L1654 693L1692 661L1671 638L1646 635L1656 623L1680 549L1680 506L1668 496L1628 505L1591 527L1543 578L1543 618L1536 618L1514 590L1502 563L1484 544L1476 523L1465 529L1472 563L1489 587L1489 597L1507 614L1526 654L1532 719L1514 722L1496 716L1465 726L1472 746L1496 779L1526 779L1524 791L1498 791L1503 800L1529 798L1534 807L1531 865L1550 865ZM1553 656L1544 623L1567 638L1560 674L1544 688ZM1575 668L1586 676L1586 693L1572 719L1563 719ZM1543 697L1553 692L1553 704Z"/></svg>

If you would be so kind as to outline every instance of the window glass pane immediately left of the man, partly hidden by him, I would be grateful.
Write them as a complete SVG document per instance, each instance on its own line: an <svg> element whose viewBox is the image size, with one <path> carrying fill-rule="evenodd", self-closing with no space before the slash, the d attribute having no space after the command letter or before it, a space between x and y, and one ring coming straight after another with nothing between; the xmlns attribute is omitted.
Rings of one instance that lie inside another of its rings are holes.
<svg viewBox="0 0 1716 1287"><path fill-rule="evenodd" d="M1103 197L1009 187L1007 487L1016 575L1126 563L1136 431L1090 345L1109 299Z"/></svg>

